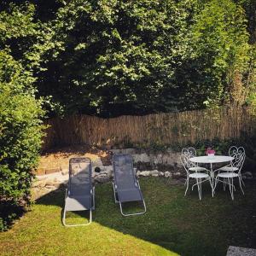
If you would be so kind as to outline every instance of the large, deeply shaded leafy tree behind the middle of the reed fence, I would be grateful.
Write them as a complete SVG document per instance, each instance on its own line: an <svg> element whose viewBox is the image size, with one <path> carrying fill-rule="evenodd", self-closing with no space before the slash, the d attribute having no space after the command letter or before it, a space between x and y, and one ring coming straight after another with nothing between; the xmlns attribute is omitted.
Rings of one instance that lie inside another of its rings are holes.
<svg viewBox="0 0 256 256"><path fill-rule="evenodd" d="M103 116L149 113L166 106L163 89L176 92L173 73L187 47L188 2L69 1L51 22L52 58L38 88L66 113Z"/></svg>

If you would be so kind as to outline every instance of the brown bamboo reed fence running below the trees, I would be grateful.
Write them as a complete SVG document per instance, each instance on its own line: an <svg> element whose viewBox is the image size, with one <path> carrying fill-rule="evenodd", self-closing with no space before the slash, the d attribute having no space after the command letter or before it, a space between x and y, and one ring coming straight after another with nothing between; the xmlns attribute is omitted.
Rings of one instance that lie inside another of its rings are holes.
<svg viewBox="0 0 256 256"><path fill-rule="evenodd" d="M83 143L99 147L122 143L186 144L214 137L240 137L241 132L251 134L255 126L250 109L237 106L111 119L73 115L49 119L46 125L50 126L44 149Z"/></svg>

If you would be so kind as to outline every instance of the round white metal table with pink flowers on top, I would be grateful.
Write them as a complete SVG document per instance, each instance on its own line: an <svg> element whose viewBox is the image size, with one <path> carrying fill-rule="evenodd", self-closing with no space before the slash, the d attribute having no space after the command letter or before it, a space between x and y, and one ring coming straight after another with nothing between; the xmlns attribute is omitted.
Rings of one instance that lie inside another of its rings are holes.
<svg viewBox="0 0 256 256"><path fill-rule="evenodd" d="M191 162L197 163L197 164L209 164L210 165L210 176L212 179L212 196L213 196L213 181L214 181L214 171L212 168L212 164L218 164L218 163L227 163L230 162L230 164L232 164L232 160L234 160L234 157L232 156L227 156L227 155L212 155L212 156L208 156L208 155L204 155L204 156L195 156L195 157L191 157L189 158L189 160Z"/></svg>

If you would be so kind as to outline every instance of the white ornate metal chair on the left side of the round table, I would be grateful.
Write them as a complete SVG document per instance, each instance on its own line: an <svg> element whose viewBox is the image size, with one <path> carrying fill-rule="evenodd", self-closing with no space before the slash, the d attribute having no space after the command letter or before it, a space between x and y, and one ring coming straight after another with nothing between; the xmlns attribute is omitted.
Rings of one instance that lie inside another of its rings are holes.
<svg viewBox="0 0 256 256"><path fill-rule="evenodd" d="M201 183L209 181L212 187L212 180L210 175L206 173L206 172L209 172L206 168L197 166L195 163L189 160L191 157L195 157L195 156L196 156L195 148L191 148L191 147L183 148L180 160L187 174L187 178L185 182L185 185L187 185L187 188L185 191L185 195L187 195L187 191L189 189L189 179L195 178L196 183L192 186L192 190L194 186L197 185L199 199L201 200Z"/></svg>

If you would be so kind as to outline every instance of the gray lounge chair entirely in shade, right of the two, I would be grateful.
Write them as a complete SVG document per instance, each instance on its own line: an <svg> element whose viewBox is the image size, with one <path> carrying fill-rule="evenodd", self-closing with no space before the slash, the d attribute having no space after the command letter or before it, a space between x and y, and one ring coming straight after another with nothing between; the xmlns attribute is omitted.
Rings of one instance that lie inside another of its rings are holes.
<svg viewBox="0 0 256 256"><path fill-rule="evenodd" d="M120 211L123 216L143 214L146 212L146 205L140 185L133 171L131 154L113 155L113 195L115 203L119 203ZM142 201L144 211L127 213L123 212L122 203L128 201Z"/></svg>

